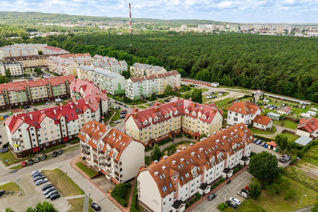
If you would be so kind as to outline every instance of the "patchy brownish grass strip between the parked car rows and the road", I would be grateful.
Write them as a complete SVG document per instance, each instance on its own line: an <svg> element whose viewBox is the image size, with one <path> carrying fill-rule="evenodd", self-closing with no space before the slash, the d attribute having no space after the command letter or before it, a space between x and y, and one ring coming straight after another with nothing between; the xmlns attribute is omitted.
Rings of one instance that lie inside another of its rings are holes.
<svg viewBox="0 0 318 212"><path fill-rule="evenodd" d="M42 173L63 196L85 194L84 191L80 189L80 187L78 187L78 185L76 185L65 173L62 173L62 170L60 169L43 170Z"/></svg>

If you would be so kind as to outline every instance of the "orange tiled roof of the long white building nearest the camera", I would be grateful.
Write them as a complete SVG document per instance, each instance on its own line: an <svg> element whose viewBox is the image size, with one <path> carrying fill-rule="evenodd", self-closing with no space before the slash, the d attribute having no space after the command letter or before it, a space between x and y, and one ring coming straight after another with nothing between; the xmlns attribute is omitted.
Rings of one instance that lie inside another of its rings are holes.
<svg viewBox="0 0 318 212"><path fill-rule="evenodd" d="M232 132L233 134L231 134ZM225 140L223 138L224 136L226 136ZM245 138L245 140L243 140L243 138ZM240 150L246 145L251 144L252 141L252 132L250 129L245 127L244 123L240 123L184 150L181 149L180 152L169 157L162 157L159 162L152 162L147 168L142 167L138 174L142 171L149 171L150 175L157 184L161 197L163 198L176 190L175 183L171 180L172 174L179 174L178 182L180 186L183 186L193 179L191 168L196 168L197 173L201 174L203 173L204 166L211 166L211 161L209 159L212 157L215 157L215 162L217 164L219 162L217 157L219 153L221 153L222 159L226 159L227 154L234 154L232 149L233 143L237 144L237 149ZM224 145L222 143L224 143ZM201 148L203 148L202 152L200 152ZM192 152L195 152L193 157L191 155ZM183 159L183 162L181 159ZM193 162L191 162L190 159L192 159ZM173 165L173 162L175 165ZM182 164L182 166L180 164ZM138 177L138 174L136 178ZM169 186L169 183L171 183L171 187ZM167 191L163 191L162 187L164 186L166 186Z"/></svg>

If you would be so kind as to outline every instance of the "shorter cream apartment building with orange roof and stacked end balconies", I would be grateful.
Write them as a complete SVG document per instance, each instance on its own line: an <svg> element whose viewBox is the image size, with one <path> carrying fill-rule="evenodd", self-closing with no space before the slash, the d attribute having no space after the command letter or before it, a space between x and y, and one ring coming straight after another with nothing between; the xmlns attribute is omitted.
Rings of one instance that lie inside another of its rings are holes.
<svg viewBox="0 0 318 212"><path fill-rule="evenodd" d="M134 179L144 166L145 145L127 134L99 123L88 121L78 135L82 157L113 184Z"/></svg>

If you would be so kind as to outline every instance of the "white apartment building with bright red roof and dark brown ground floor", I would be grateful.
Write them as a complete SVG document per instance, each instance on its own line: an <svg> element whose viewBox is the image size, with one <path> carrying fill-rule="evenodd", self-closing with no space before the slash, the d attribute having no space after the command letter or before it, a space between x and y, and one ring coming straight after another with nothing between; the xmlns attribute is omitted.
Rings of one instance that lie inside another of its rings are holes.
<svg viewBox="0 0 318 212"><path fill-rule="evenodd" d="M79 117L71 104L14 114L4 125L17 158L75 140L80 129Z"/></svg>

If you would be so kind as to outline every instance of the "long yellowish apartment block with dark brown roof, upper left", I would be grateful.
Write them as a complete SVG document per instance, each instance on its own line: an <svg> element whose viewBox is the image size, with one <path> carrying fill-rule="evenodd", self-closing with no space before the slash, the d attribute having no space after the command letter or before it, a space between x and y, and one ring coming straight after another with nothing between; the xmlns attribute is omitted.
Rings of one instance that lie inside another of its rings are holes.
<svg viewBox="0 0 318 212"><path fill-rule="evenodd" d="M45 55L31 55L31 56L18 56L18 57L4 57L6 61L22 62L24 68L44 67L48 66L48 58L57 57L58 54L45 54Z"/></svg>

